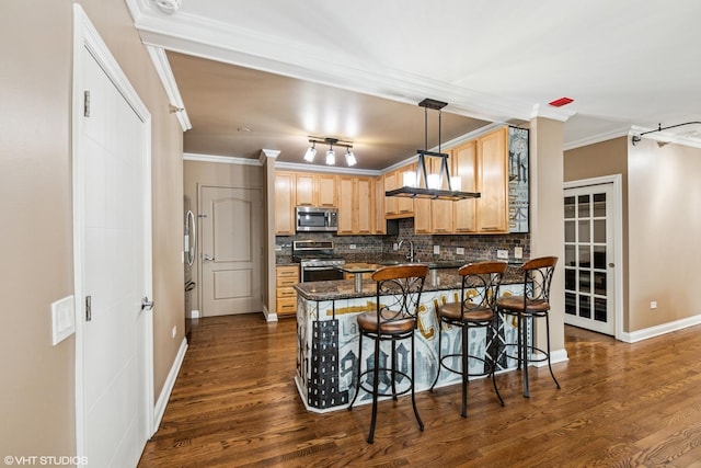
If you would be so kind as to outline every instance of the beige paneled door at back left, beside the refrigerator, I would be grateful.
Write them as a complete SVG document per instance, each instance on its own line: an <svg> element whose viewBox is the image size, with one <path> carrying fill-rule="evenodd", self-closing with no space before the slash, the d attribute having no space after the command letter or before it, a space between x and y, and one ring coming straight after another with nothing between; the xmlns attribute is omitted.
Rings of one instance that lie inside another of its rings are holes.
<svg viewBox="0 0 701 468"><path fill-rule="evenodd" d="M199 219L203 316L261 311L261 190L202 186Z"/></svg>

